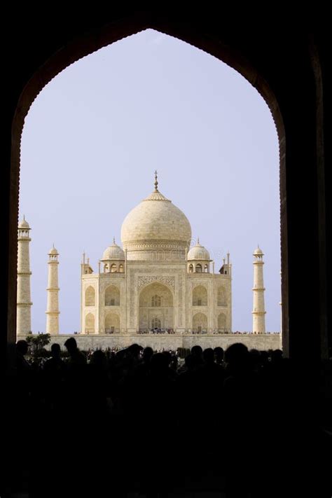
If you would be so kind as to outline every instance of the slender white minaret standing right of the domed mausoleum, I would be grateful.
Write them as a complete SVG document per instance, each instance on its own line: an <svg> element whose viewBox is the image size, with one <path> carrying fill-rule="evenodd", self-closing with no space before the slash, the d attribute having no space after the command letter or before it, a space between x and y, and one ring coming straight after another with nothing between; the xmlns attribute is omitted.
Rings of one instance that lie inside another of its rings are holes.
<svg viewBox="0 0 332 498"><path fill-rule="evenodd" d="M264 304L264 281L263 281L263 251L257 247L254 251L254 308L252 311L253 333L265 333L265 304Z"/></svg>

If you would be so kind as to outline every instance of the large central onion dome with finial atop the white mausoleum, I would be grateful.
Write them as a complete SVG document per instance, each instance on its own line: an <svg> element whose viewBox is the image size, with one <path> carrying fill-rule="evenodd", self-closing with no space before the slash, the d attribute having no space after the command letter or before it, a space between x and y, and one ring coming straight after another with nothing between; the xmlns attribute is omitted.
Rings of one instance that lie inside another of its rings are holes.
<svg viewBox="0 0 332 498"><path fill-rule="evenodd" d="M155 191L125 217L121 241L128 259L184 259L191 225L181 209L158 191L155 179Z"/></svg>

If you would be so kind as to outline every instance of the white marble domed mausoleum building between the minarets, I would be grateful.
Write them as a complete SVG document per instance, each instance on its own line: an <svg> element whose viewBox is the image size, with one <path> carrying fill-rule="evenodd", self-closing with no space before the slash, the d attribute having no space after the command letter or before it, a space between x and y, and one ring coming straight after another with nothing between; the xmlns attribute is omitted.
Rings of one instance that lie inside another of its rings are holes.
<svg viewBox="0 0 332 498"><path fill-rule="evenodd" d="M209 251L191 247L191 224L158 191L127 214L123 248L107 247L93 272L83 259L81 330L84 333L212 333L232 328L231 265L219 273Z"/></svg>

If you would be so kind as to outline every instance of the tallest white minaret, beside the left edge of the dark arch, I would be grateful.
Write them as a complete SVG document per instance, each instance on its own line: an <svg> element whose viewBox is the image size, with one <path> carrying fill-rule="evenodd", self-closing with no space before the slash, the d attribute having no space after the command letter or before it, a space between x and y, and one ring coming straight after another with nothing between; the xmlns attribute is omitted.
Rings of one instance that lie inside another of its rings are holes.
<svg viewBox="0 0 332 498"><path fill-rule="evenodd" d="M17 335L27 336L31 331L31 293L30 293L30 239L29 223L23 216L18 225L18 297L16 315Z"/></svg>

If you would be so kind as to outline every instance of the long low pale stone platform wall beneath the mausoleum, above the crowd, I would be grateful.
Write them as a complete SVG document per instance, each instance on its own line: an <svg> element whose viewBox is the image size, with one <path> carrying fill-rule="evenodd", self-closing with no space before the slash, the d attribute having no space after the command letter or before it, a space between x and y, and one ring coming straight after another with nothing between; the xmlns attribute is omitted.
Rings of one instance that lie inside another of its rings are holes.
<svg viewBox="0 0 332 498"><path fill-rule="evenodd" d="M218 334L218 335L200 335L192 336L163 335L163 334L137 334L135 336L126 335L64 335L55 336L52 343L58 343L63 349L64 342L69 338L74 337L77 341L80 350L92 350L96 348L106 349L106 347L123 348L130 344L137 343L143 347L151 346L153 350L176 350L177 347L191 348L194 345L200 345L203 349L206 347L221 346L224 350L234 343L243 343L249 349L256 350L277 350L281 349L280 334L264 334L260 336L252 334ZM19 336L19 339L25 339L26 336Z"/></svg>

